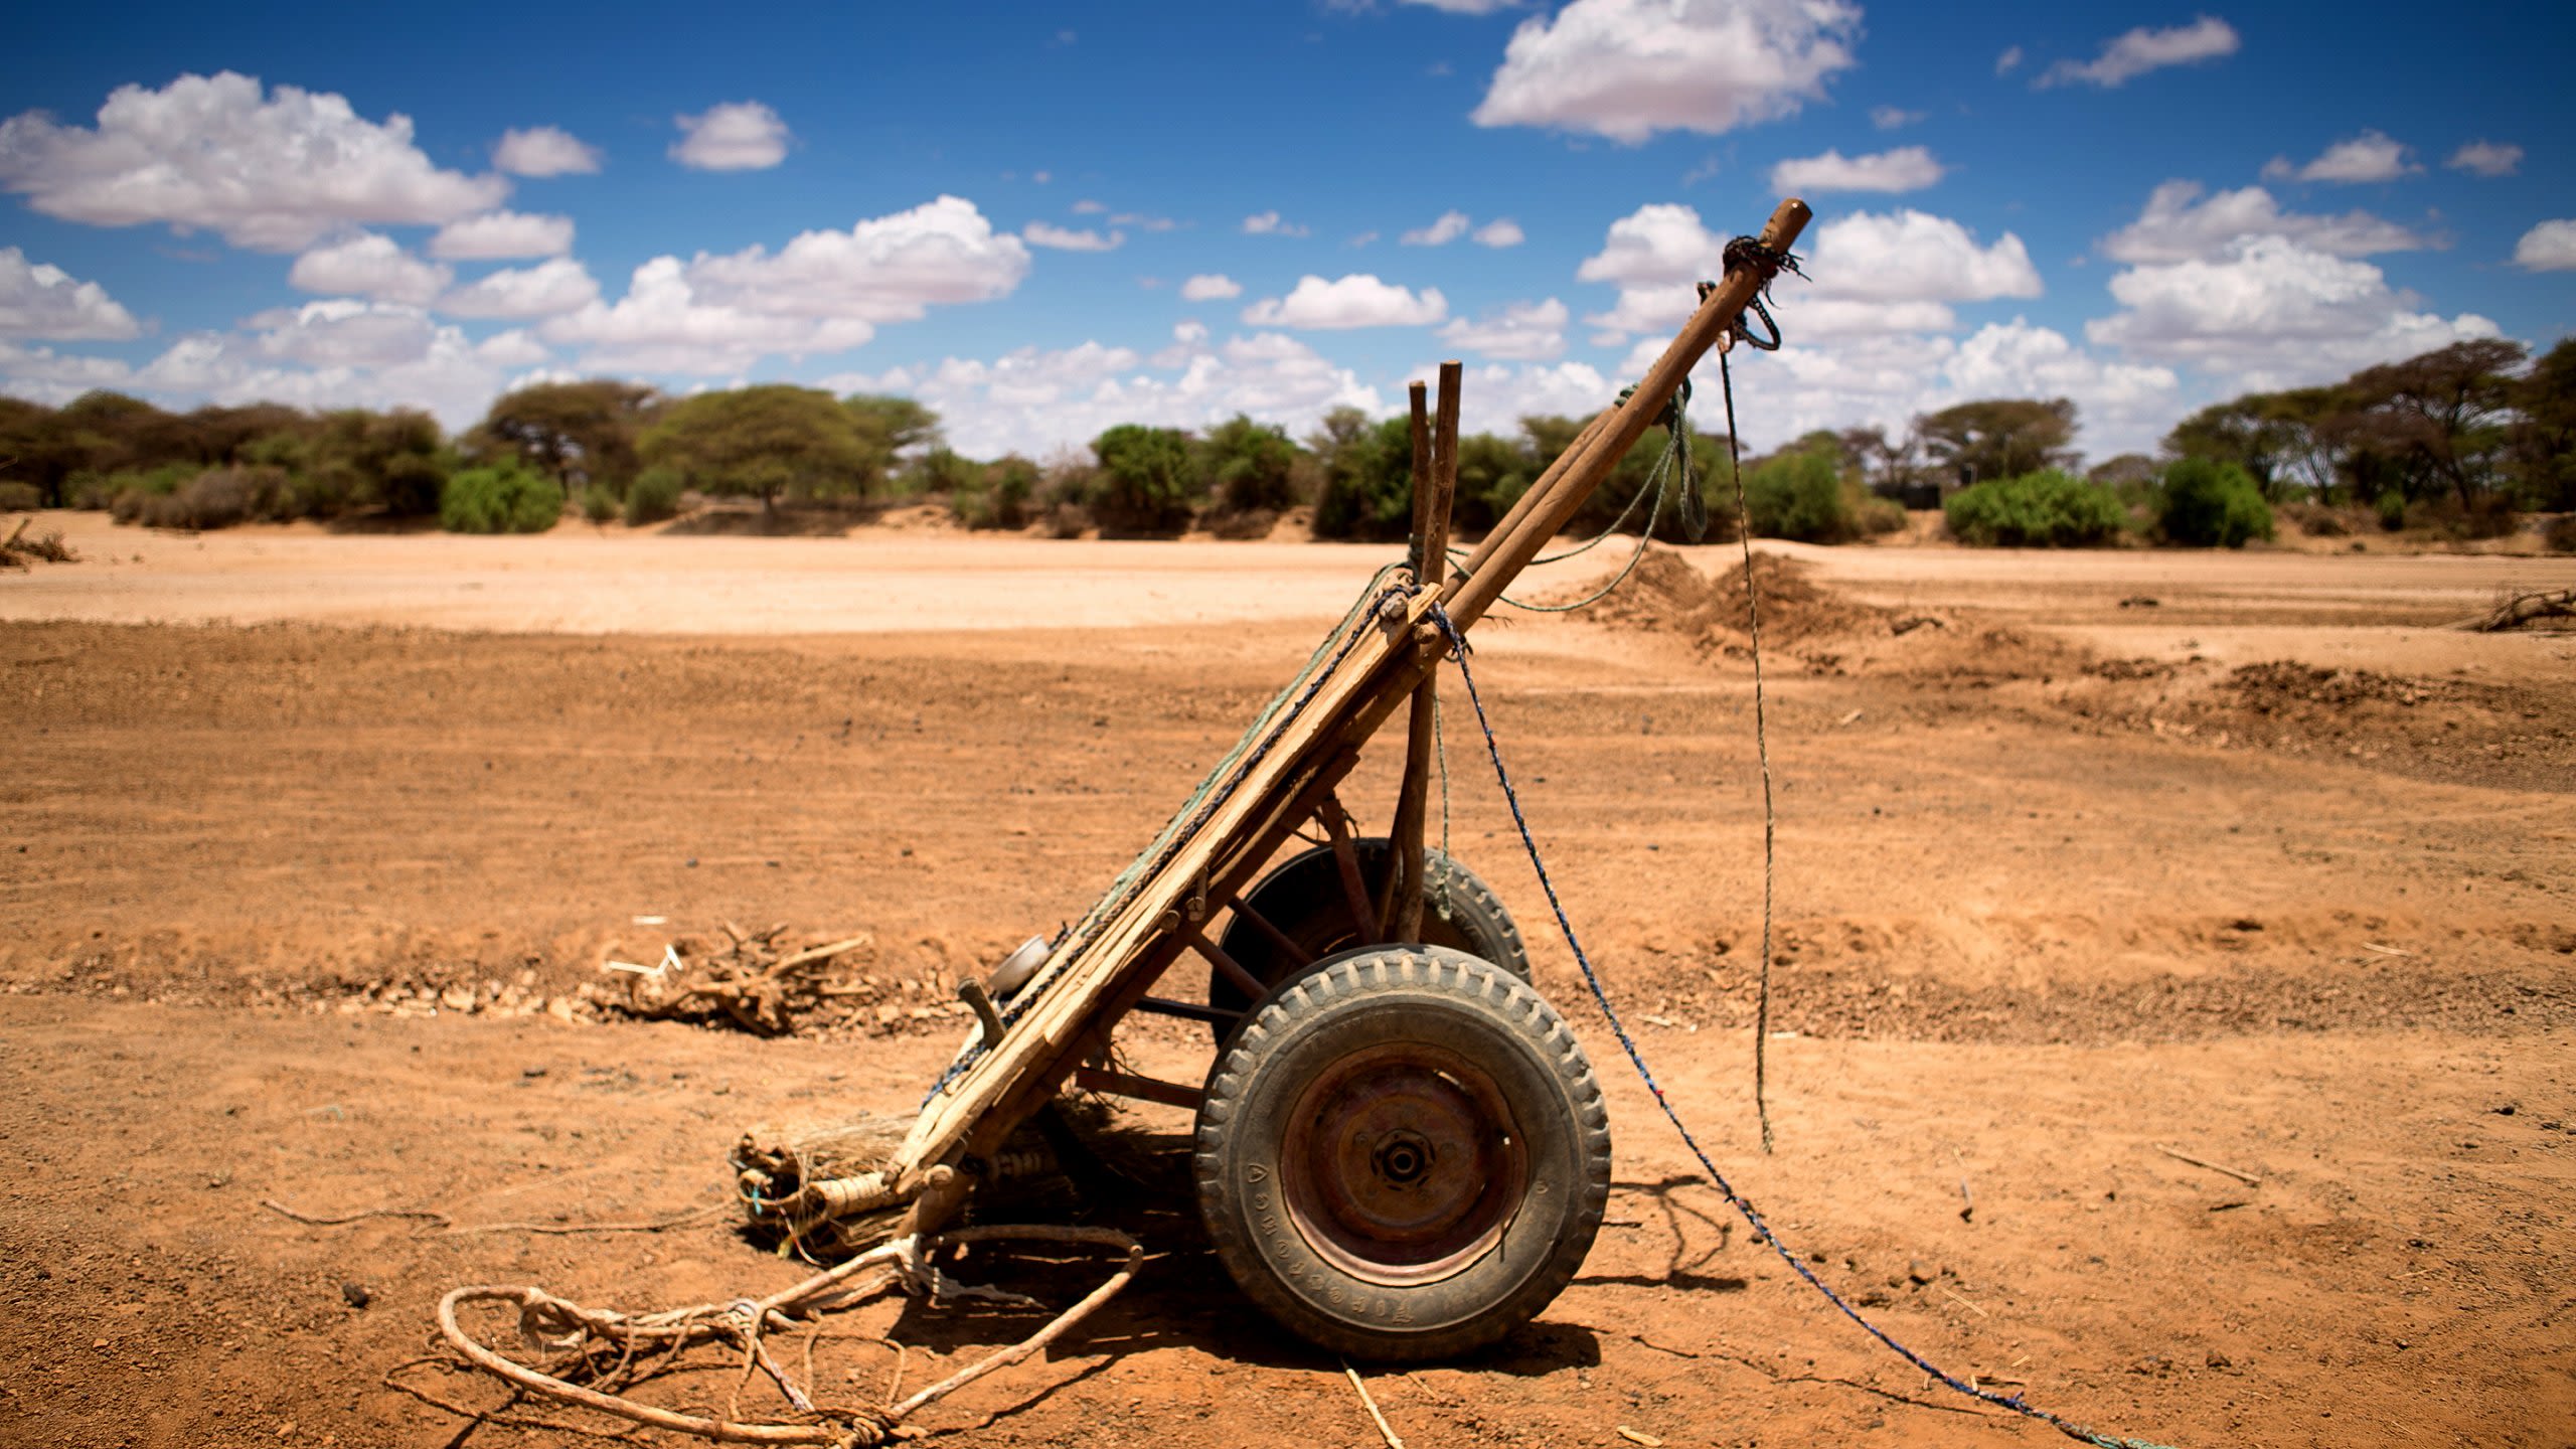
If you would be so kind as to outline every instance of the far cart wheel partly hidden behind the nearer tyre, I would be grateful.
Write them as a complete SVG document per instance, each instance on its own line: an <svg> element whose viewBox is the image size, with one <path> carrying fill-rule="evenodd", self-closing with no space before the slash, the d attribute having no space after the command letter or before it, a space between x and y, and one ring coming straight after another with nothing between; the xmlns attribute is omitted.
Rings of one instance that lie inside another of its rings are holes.
<svg viewBox="0 0 2576 1449"><path fill-rule="evenodd" d="M1396 846L1383 835L1352 841L1352 846L1360 856L1360 879L1368 882L1368 900L1376 900L1396 859ZM1530 946L1522 944L1520 926L1512 926L1512 913L1502 908L1494 890L1476 879L1476 871L1440 851L1425 848L1422 864L1419 944L1466 951L1520 980L1530 980ZM1332 859L1332 846L1291 856L1252 887L1244 905L1285 931L1306 962L1321 962L1337 951L1376 944L1363 941L1360 923L1350 918L1350 892L1342 887L1342 866ZM1267 931L1244 920L1242 913L1226 923L1218 946L1267 985L1278 985L1301 967ZM1208 1006L1244 1011L1252 1000L1234 985L1234 977L1211 969ZM1213 1031L1221 1044L1231 1026L1216 1026Z"/></svg>

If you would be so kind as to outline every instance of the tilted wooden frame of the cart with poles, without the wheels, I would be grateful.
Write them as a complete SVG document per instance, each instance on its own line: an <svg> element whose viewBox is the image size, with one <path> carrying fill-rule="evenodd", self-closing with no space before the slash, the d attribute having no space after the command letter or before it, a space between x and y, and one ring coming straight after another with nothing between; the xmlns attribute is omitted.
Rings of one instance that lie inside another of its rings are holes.
<svg viewBox="0 0 2576 1449"><path fill-rule="evenodd" d="M1113 1070L1110 1031L1139 1008L1208 1013L1154 998L1157 982L1182 959L1203 957L1257 1000L1267 985L1234 962L1211 936L1221 910L1236 910L1265 936L1285 936L1247 913L1244 892L1265 864L1306 825L1319 822L1340 861L1358 920L1381 941L1419 941L1425 887L1425 786L1432 755L1435 676L1448 637L1435 611L1466 632L1610 477L1620 456L1664 413L1690 369L1728 345L1808 222L1803 201L1783 201L1744 266L1703 289L1700 307L1674 335L1646 379L1605 407L1556 464L1533 482L1510 516L1458 567L1448 565L1448 518L1458 477L1461 366L1443 364L1437 410L1425 384L1412 387L1414 529L1406 567L1365 601L1347 632L1319 657L1303 691L1247 735L1244 750L1211 776L1208 789L1177 817L1157 851L1123 877L1110 897L1056 944L1054 959L1007 1006L994 1011L969 985L981 1026L958 1065L933 1088L920 1119L878 1178L886 1201L909 1201L902 1232L945 1225L981 1178L1002 1142L1066 1085L1195 1109L1200 1088ZM1417 585L1414 580L1425 580ZM1440 580L1427 588L1427 580ZM1350 812L1337 786L1360 748L1409 704L1404 784L1394 812L1394 869L1381 892L1363 882ZM1231 1013L1224 1013L1231 1018Z"/></svg>

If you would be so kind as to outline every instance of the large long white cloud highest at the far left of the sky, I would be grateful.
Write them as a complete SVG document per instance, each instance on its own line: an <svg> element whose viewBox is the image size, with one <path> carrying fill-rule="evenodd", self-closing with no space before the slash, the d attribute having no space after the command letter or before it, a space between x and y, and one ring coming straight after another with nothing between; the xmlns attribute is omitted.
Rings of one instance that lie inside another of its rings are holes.
<svg viewBox="0 0 2576 1449"><path fill-rule="evenodd" d="M98 126L41 111L0 121L0 186L93 227L206 229L237 248L294 253L353 224L433 227L489 211L500 175L440 170L412 119L358 116L343 95L247 75L180 75L116 88Z"/></svg>

